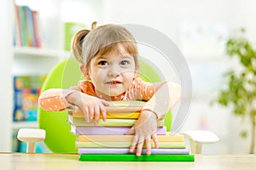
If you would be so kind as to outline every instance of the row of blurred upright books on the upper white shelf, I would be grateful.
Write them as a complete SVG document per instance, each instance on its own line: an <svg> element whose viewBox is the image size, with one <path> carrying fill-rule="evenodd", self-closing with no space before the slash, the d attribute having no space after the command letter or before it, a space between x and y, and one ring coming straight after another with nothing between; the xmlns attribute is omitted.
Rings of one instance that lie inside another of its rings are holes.
<svg viewBox="0 0 256 170"><path fill-rule="evenodd" d="M38 12L26 5L15 5L14 45L40 48L38 24Z"/></svg>

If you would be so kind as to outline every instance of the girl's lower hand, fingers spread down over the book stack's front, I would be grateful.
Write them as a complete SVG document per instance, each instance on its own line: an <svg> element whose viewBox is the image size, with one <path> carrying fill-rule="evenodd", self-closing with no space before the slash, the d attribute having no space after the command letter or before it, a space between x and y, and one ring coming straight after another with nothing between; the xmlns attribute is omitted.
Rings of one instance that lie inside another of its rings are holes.
<svg viewBox="0 0 256 170"><path fill-rule="evenodd" d="M137 146L137 156L142 155L143 144L146 143L147 155L151 154L151 139L154 141L155 148L158 148L156 138L157 118L152 111L143 111L131 129L125 134L135 134L131 143L130 152Z"/></svg>

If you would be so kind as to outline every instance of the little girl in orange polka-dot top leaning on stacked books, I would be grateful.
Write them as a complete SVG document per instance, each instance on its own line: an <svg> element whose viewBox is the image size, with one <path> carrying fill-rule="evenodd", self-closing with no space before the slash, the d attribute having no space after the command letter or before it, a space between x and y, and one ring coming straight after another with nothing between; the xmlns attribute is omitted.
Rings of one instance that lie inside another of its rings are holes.
<svg viewBox="0 0 256 170"><path fill-rule="evenodd" d="M86 122L94 120L97 124L100 115L107 121L108 100L147 101L137 122L125 134L134 134L131 152L137 148L137 156L141 156L145 143L150 155L151 139L158 148L157 120L177 104L180 86L173 82L143 82L137 77L137 43L123 26L105 25L79 31L73 37L72 51L85 80L77 87L44 91L39 105L45 111L77 105Z"/></svg>

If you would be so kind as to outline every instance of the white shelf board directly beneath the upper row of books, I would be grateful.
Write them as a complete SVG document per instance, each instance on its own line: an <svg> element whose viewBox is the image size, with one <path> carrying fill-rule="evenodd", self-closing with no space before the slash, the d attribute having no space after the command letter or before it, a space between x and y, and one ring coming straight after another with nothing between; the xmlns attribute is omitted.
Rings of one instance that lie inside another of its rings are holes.
<svg viewBox="0 0 256 170"><path fill-rule="evenodd" d="M70 56L69 52L47 49L47 48L28 48L28 47L15 47L15 56L38 56L44 58L57 58L65 59Z"/></svg>

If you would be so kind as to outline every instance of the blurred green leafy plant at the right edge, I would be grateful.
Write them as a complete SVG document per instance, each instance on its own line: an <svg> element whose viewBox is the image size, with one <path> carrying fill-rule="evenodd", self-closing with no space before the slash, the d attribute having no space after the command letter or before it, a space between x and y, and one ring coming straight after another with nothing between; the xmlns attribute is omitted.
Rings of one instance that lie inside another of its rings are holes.
<svg viewBox="0 0 256 170"><path fill-rule="evenodd" d="M248 116L250 120L250 151L253 154L256 138L256 49L245 37L245 30L229 37L225 50L228 56L239 60L239 68L227 71L226 88L218 94L218 104L231 106L236 116ZM242 132L247 137L247 132Z"/></svg>

